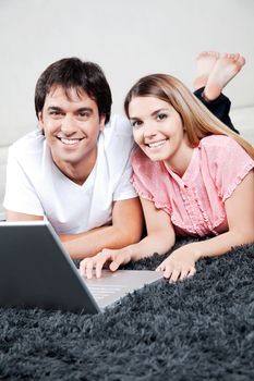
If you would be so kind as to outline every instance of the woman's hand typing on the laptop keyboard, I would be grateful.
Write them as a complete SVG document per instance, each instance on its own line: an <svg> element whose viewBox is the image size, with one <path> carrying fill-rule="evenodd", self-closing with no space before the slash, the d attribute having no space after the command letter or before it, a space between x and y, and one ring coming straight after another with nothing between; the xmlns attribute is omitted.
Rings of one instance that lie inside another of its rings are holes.
<svg viewBox="0 0 254 381"><path fill-rule="evenodd" d="M116 271L121 265L125 265L130 260L131 254L128 248L119 250L104 248L96 256L83 259L80 263L80 272L82 276L92 279L95 270L96 278L100 278L105 263L109 263L109 269Z"/></svg>

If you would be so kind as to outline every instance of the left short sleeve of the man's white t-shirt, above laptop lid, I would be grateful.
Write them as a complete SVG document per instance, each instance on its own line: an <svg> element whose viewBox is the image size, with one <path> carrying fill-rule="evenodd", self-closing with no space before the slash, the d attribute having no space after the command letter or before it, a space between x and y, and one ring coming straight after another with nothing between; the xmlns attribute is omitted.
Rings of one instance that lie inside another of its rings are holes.
<svg viewBox="0 0 254 381"><path fill-rule="evenodd" d="M44 216L33 184L17 161L13 149L14 147L9 149L3 207L20 213Z"/></svg>

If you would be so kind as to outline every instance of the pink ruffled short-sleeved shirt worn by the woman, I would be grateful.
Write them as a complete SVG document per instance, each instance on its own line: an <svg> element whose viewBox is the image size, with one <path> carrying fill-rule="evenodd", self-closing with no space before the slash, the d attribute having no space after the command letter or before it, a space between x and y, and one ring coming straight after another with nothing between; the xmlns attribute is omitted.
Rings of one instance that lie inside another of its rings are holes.
<svg viewBox="0 0 254 381"><path fill-rule="evenodd" d="M232 138L210 135L194 148L182 177L140 148L132 165L137 194L170 216L176 233L204 236L228 230L225 201L253 170L254 160Z"/></svg>

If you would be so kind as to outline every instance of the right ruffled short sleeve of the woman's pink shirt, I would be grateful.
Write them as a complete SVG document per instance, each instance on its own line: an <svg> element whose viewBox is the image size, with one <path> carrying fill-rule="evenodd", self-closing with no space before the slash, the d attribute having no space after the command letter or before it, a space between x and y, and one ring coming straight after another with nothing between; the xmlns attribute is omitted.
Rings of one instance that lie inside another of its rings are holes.
<svg viewBox="0 0 254 381"><path fill-rule="evenodd" d="M254 168L254 160L234 139L223 136L221 143L214 147L215 183L225 202Z"/></svg>

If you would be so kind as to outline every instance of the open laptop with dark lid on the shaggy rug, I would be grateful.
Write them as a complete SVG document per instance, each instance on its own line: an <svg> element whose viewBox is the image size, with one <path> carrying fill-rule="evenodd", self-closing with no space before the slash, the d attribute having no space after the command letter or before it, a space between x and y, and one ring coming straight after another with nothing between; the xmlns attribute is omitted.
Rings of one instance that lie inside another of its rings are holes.
<svg viewBox="0 0 254 381"><path fill-rule="evenodd" d="M47 221L0 222L0 307L97 314L162 278L156 271L102 270L100 279L84 279Z"/></svg>

